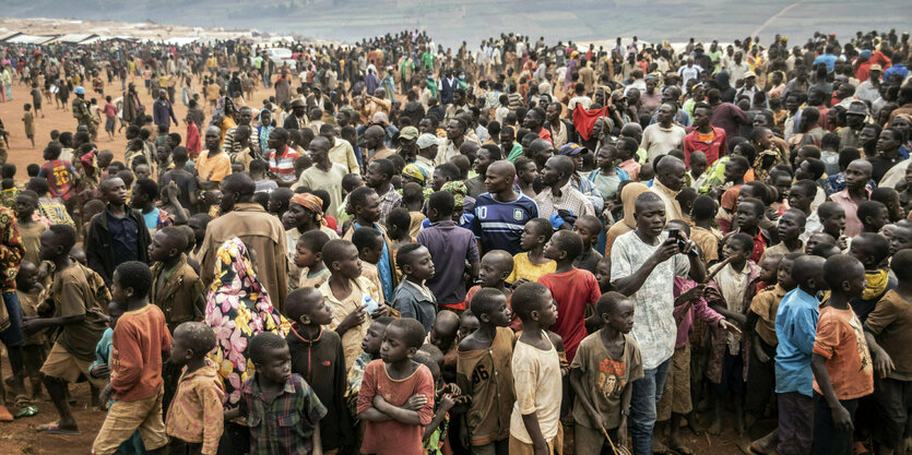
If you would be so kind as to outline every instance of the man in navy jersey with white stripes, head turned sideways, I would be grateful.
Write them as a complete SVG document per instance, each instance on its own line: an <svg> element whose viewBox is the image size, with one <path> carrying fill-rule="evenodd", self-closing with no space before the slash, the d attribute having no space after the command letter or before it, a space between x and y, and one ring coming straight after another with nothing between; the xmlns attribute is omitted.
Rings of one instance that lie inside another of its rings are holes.
<svg viewBox="0 0 912 455"><path fill-rule="evenodd" d="M475 218L472 231L481 241L482 254L504 250L518 254L522 227L530 219L538 217L535 201L513 191L517 169L507 160L491 163L485 173L488 192L475 200Z"/></svg>

